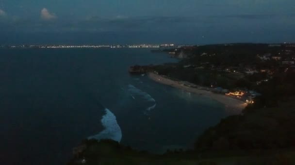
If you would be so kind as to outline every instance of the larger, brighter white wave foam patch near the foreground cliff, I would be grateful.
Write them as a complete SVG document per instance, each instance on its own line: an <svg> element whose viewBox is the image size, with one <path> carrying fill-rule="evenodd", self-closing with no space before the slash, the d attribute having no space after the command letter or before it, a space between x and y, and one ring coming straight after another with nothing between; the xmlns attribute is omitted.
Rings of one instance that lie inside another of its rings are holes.
<svg viewBox="0 0 295 165"><path fill-rule="evenodd" d="M117 142L120 142L122 139L122 131L117 123L114 113L110 110L105 109L106 114L102 116L101 124L104 126L104 130L101 131L98 135L91 136L88 139L112 139Z"/></svg>

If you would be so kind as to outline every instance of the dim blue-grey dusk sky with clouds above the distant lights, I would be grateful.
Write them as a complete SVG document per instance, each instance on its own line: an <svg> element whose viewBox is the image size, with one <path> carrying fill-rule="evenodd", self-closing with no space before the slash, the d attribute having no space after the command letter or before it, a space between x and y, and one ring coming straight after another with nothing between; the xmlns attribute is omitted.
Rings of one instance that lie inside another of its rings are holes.
<svg viewBox="0 0 295 165"><path fill-rule="evenodd" d="M0 0L0 44L295 42L295 0Z"/></svg>

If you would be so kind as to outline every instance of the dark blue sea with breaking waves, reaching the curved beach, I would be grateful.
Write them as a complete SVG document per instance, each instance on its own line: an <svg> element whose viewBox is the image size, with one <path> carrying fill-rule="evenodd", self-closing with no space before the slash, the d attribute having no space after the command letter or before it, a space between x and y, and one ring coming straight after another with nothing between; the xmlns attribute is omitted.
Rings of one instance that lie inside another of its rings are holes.
<svg viewBox="0 0 295 165"><path fill-rule="evenodd" d="M177 61L150 49L0 49L0 165L63 165L84 138L191 148L234 112L128 73Z"/></svg>

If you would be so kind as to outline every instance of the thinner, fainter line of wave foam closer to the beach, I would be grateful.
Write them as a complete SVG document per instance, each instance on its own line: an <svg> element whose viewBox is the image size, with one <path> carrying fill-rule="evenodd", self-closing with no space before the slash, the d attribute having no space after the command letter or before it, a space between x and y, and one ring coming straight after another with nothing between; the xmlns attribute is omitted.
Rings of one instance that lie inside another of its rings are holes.
<svg viewBox="0 0 295 165"><path fill-rule="evenodd" d="M141 98L143 98L143 99L145 99L146 101L148 101L148 102L152 102L152 103L154 103L151 107L148 107L146 110L147 111L151 111L151 110L153 110L154 108L156 108L156 100L152 97L152 96L150 96L148 93L146 93L146 92L144 92L144 91L142 91L142 90L140 90L140 89L138 89L138 88L136 88L135 86L133 86L133 85L128 85L128 90L131 92L131 96L133 97L133 96L137 96L137 97L141 97ZM145 114L147 114L147 113L145 113Z"/></svg>

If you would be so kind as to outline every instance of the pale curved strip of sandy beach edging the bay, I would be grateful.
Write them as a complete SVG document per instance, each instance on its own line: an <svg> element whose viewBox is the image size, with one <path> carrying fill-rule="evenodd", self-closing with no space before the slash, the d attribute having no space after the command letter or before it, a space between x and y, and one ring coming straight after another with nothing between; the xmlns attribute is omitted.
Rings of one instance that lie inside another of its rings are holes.
<svg viewBox="0 0 295 165"><path fill-rule="evenodd" d="M155 73L148 73L148 77L158 83L163 83L166 85L170 85L182 90L185 90L187 92L195 93L198 95L202 95L205 97L209 97L213 100L216 100L222 104L225 105L226 110L234 112L236 114L242 113L242 110L245 109L247 104L241 100L231 98L229 96L221 95L221 94L215 94L210 91L202 90L202 89L197 89L189 86L185 86L183 84L180 84L178 81L174 81L168 78L165 78L161 75L155 74Z"/></svg>

